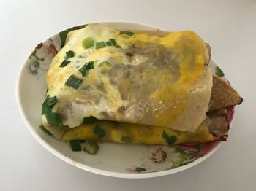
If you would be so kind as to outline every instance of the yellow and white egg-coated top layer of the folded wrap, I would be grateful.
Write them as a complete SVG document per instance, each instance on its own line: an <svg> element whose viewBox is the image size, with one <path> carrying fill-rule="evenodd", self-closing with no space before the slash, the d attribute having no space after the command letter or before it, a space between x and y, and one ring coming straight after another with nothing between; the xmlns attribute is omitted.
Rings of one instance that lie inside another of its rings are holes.
<svg viewBox="0 0 256 191"><path fill-rule="evenodd" d="M86 37L94 42L116 39L121 48L85 49ZM75 56L59 67L69 50ZM135 31L127 36L115 28L89 25L69 32L53 58L46 78L48 96L59 99L53 112L70 128L94 116L194 132L206 118L211 97L208 59L206 44L193 31ZM83 77L78 70L89 61L94 61L94 69ZM103 61L110 65L99 66ZM65 85L71 75L83 80L78 89Z"/></svg>

